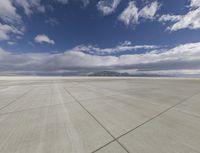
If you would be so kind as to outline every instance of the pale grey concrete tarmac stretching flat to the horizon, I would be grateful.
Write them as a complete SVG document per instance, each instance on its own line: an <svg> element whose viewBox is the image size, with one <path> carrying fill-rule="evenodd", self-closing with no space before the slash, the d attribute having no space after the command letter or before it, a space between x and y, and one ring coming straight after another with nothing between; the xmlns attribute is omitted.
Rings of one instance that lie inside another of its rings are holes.
<svg viewBox="0 0 200 153"><path fill-rule="evenodd" d="M0 77L0 153L200 153L200 79Z"/></svg>

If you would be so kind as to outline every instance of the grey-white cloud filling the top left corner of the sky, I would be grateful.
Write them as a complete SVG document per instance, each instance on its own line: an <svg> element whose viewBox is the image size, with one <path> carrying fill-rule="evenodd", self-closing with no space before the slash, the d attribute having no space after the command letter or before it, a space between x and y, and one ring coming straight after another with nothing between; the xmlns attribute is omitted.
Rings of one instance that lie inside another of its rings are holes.
<svg viewBox="0 0 200 153"><path fill-rule="evenodd" d="M9 23L20 22L21 17L17 14L11 0L0 0L0 19Z"/></svg>

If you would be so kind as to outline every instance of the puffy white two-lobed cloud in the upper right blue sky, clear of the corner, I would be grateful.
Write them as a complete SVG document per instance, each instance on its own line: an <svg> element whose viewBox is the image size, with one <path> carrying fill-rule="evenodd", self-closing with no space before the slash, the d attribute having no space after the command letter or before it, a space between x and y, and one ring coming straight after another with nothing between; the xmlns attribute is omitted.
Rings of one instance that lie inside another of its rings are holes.
<svg viewBox="0 0 200 153"><path fill-rule="evenodd" d="M139 10L135 2L131 1L129 2L128 7L120 14L118 19L127 26L138 24L139 19L153 19L159 6L159 3L155 1Z"/></svg>

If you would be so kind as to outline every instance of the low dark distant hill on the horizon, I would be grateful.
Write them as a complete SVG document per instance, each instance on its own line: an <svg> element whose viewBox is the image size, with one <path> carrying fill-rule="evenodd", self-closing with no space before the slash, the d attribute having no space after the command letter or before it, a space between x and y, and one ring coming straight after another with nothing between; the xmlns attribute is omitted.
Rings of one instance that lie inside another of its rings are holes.
<svg viewBox="0 0 200 153"><path fill-rule="evenodd" d="M129 74L129 73L119 73L114 71L100 71L100 72L93 72L88 74L88 76L124 76L124 77L169 77L165 75L157 75L157 74Z"/></svg>

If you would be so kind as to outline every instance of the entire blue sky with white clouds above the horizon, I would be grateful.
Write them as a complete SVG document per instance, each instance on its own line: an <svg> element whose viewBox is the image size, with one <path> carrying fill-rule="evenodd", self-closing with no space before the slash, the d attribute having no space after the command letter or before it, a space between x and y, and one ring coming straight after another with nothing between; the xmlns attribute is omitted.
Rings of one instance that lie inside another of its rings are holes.
<svg viewBox="0 0 200 153"><path fill-rule="evenodd" d="M0 75L200 76L200 0L0 0Z"/></svg>

